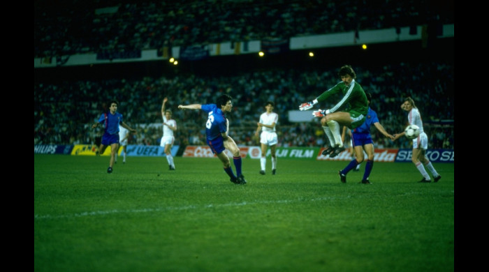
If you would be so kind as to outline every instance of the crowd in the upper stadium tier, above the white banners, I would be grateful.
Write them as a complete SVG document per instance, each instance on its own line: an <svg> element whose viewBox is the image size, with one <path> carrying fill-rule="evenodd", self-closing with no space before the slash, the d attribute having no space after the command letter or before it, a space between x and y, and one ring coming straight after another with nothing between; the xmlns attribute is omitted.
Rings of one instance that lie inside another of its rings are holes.
<svg viewBox="0 0 489 272"><path fill-rule="evenodd" d="M453 24L453 1L34 1L34 57Z"/></svg>

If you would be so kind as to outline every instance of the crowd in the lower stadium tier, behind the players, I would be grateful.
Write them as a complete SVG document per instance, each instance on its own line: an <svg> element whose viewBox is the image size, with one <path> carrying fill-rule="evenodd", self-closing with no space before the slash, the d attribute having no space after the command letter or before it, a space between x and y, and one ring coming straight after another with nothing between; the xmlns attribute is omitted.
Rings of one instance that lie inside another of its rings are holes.
<svg viewBox="0 0 489 272"><path fill-rule="evenodd" d="M421 110L430 148L453 149L453 64L393 63L384 66L355 66L357 81L372 93L372 108L390 133L400 133L406 116L400 104L411 96ZM266 101L275 102L279 114L279 146L323 146L325 136L319 119L292 123L289 110L312 100L314 93L339 81L337 68L295 70L274 68L229 76L182 74L161 77L80 80L77 82L35 83L34 144L95 144L101 129L92 123L110 99L117 98L124 121L138 130L129 144L159 145L161 139L161 99L168 97L167 108L178 123L176 145L205 144L200 111L180 111L179 104L214 103L216 93L233 96L233 112L228 114L231 133L238 144L257 145L256 122ZM328 107L330 105L319 105ZM409 148L407 139L396 142L372 130L377 148Z"/></svg>

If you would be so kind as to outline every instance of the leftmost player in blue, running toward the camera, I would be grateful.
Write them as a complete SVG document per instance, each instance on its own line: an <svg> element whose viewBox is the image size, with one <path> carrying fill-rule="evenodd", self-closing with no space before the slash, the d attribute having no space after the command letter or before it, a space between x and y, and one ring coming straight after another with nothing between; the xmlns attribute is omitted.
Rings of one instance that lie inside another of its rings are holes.
<svg viewBox="0 0 489 272"><path fill-rule="evenodd" d="M107 146L110 146L111 151L109 167L107 169L108 173L112 173L112 167L114 166L115 162L115 154L119 150L119 125L127 128L132 133L136 133L135 129L127 126L127 124L122 121L122 114L119 114L119 112L117 112L118 106L119 102L117 102L117 100L110 101L109 110L107 112L104 112L100 116L100 118L98 118L98 121L92 126L92 128L96 128L99 124L102 124L104 128L102 142L100 144L100 147L98 148L98 151L102 155Z"/></svg>

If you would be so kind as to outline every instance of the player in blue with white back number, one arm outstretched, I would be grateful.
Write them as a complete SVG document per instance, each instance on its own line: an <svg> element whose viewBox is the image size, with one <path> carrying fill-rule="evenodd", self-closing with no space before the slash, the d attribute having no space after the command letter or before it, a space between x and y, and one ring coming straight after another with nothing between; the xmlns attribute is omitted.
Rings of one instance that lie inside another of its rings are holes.
<svg viewBox="0 0 489 272"><path fill-rule="evenodd" d="M245 184L245 176L241 170L241 154L240 148L234 142L233 138L228 135L229 121L226 119L226 112L231 112L233 103L231 96L223 94L216 100L216 104L191 104L178 105L179 109L202 109L207 112L207 122L205 123L206 142L210 146L212 153L216 154L221 160L224 171L231 178L231 182L235 184ZM233 154L233 163L236 168L236 175L231 168L231 161L224 152L225 149Z"/></svg>

